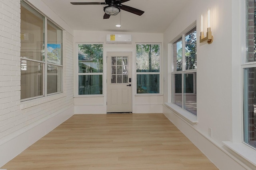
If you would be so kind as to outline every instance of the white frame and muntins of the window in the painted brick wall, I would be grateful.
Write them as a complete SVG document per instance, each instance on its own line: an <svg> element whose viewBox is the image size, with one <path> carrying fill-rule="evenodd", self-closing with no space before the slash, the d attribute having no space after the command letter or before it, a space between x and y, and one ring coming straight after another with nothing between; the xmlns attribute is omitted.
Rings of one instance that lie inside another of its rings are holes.
<svg viewBox="0 0 256 170"><path fill-rule="evenodd" d="M33 62L37 62L37 63L42 63L42 76L43 76L43 81L42 81L42 95L40 96L34 96L34 97L30 97L30 98L24 98L24 99L20 99L21 102L24 101L28 101L28 100L33 100L33 99L37 99L37 98L44 98L47 96L52 96L54 94L60 94L63 93L63 28L60 27L60 25L58 25L57 23L55 23L53 20L51 20L50 18L48 18L48 16L46 16L44 13L42 13L40 10L38 10L37 8L35 8L32 4L30 4L29 2L27 2L26 0L21 0L24 4L26 4L27 6L29 6L30 8L32 8L35 12L39 13L40 15L42 15L44 17L43 19L43 27L44 27L44 42L40 42L40 44L37 45L41 45L41 43L43 43L44 45L44 59L42 61L39 60L35 60L35 59L30 59L28 58L28 56L20 56L20 62L22 60L24 61L33 61ZM20 6L22 6L22 4L20 4ZM48 25L48 21L51 22L52 24L54 24L55 27L58 27L61 30L61 63L60 64L54 64L54 63L48 63L47 61L47 25ZM21 62L22 63L22 62ZM54 93L50 93L47 94L47 66L48 64L54 65L54 66L60 66L61 68L61 90L60 92L54 92Z"/></svg>

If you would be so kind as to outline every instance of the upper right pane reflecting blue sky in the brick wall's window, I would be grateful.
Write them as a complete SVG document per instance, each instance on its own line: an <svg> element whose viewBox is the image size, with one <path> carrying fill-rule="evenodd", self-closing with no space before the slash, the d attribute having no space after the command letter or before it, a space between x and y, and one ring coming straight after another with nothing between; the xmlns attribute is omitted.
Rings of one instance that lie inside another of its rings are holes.
<svg viewBox="0 0 256 170"><path fill-rule="evenodd" d="M62 64L62 30L47 20L47 62Z"/></svg>

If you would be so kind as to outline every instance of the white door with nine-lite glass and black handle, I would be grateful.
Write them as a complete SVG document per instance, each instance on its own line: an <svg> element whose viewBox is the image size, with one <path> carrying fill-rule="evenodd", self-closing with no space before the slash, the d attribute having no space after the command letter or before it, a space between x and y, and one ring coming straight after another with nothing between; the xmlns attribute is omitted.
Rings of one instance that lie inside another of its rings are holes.
<svg viewBox="0 0 256 170"><path fill-rule="evenodd" d="M132 112L132 53L107 56L107 113Z"/></svg>

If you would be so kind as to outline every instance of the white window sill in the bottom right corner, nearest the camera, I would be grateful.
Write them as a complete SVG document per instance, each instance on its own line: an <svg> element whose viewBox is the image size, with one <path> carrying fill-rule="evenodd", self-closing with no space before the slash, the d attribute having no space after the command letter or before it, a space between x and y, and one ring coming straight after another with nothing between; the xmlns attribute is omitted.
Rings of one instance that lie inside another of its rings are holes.
<svg viewBox="0 0 256 170"><path fill-rule="evenodd" d="M231 149L233 151L233 154L236 158L241 159L242 157L243 159L250 162L253 166L256 166L256 150L252 149L249 146L246 146L243 143L233 143L230 141L223 141L222 143L224 143L224 145L228 147L228 149Z"/></svg>

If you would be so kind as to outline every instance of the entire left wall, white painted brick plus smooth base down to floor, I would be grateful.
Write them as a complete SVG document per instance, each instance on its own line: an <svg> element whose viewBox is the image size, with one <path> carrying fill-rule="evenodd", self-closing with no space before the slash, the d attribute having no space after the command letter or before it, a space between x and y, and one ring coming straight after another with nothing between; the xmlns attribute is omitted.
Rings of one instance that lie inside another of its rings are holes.
<svg viewBox="0 0 256 170"><path fill-rule="evenodd" d="M73 32L41 0L35 6L63 32L63 93L20 102L20 0L0 2L0 167L74 114Z"/></svg>

